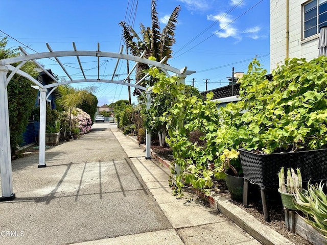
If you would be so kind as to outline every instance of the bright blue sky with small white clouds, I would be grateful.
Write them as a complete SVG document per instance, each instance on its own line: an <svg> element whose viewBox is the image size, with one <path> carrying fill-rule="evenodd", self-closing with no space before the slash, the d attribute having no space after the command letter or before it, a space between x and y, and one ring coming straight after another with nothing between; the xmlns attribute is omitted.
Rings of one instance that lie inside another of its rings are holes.
<svg viewBox="0 0 327 245"><path fill-rule="evenodd" d="M196 73L186 78L185 83L205 90L228 84L232 67L235 72L246 72L249 62L258 57L269 71L269 1L268 0L157 0L157 12L161 30L165 19L176 6L181 11L176 27L176 43L173 58L169 64L182 68L187 66ZM126 21L139 32L139 23L151 26L151 0L10 0L0 5L2 21L0 30L7 33L27 48L29 54L48 52L48 42L53 51L100 50L118 53L123 42L119 22ZM3 34L3 33L0 33ZM21 45L9 38L8 46ZM125 52L125 49L124 49ZM81 57L88 78L96 79L97 62L94 57ZM76 58L60 58L69 74L81 76ZM64 71L50 59L39 60L59 78ZM100 61L102 79L111 79L115 59ZM133 67L133 64L130 64ZM116 71L117 80L126 77L126 61L121 62ZM67 77L65 77L67 79ZM127 86L115 84L75 84L97 86L95 93L99 105L128 99ZM133 89L132 89L133 90ZM136 103L136 97L132 102Z"/></svg>

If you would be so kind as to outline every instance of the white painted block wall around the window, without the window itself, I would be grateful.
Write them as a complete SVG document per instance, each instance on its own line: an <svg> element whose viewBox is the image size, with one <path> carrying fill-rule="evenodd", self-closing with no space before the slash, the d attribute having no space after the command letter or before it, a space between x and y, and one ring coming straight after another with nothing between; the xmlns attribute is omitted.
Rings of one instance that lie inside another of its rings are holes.
<svg viewBox="0 0 327 245"><path fill-rule="evenodd" d="M286 58L286 1L270 0L270 72ZM308 0L289 0L289 58L318 57L319 35L302 38L302 8Z"/></svg>

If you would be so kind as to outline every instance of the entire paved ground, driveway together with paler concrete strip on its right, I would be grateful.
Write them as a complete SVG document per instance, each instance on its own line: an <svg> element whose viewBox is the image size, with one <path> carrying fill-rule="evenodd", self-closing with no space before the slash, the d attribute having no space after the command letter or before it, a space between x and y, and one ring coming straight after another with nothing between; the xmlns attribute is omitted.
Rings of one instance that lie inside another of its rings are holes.
<svg viewBox="0 0 327 245"><path fill-rule="evenodd" d="M12 162L0 244L260 244L225 216L177 200L169 171L115 126ZM191 201L193 199L193 201Z"/></svg>

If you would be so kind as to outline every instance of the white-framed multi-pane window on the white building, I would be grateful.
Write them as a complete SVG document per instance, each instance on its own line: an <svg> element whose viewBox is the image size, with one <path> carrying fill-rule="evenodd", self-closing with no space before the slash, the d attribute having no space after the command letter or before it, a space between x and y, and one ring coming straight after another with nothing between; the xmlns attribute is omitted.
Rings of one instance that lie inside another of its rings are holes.
<svg viewBox="0 0 327 245"><path fill-rule="evenodd" d="M303 5L303 37L319 33L319 28L327 25L327 0L313 0Z"/></svg>

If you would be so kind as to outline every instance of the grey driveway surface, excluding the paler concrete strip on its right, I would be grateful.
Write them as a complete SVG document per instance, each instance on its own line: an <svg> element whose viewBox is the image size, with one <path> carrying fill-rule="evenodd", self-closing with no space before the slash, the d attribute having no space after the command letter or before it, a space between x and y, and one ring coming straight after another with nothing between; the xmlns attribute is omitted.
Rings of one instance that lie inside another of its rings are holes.
<svg viewBox="0 0 327 245"><path fill-rule="evenodd" d="M110 127L95 124L47 150L45 168L37 168L38 154L12 162L16 199L0 203L1 244L67 244L172 228Z"/></svg>

